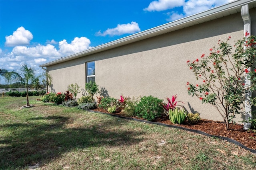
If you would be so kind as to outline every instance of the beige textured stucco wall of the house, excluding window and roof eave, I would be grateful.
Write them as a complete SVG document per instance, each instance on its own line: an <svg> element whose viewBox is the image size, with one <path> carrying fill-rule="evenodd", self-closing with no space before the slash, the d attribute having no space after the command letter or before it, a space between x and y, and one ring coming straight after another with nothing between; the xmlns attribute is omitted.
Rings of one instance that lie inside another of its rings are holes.
<svg viewBox="0 0 256 170"><path fill-rule="evenodd" d="M256 10L250 10L256 16ZM255 18L252 17L252 34L255 35ZM254 28L253 28L254 27ZM155 96L171 98L177 94L178 100L190 112L200 113L204 119L222 121L222 117L210 104L202 104L196 97L188 96L186 83L197 80L186 61L200 59L204 53L221 39L231 36L230 43L243 37L241 14L208 21L192 27L159 35L81 57L65 63L48 66L54 78L52 88L55 92L65 92L68 84L78 83L84 89L86 81L86 62L95 61L96 83L112 97ZM81 96L79 94L79 96ZM165 99L164 99L165 100ZM244 115L236 115L238 122Z"/></svg>

